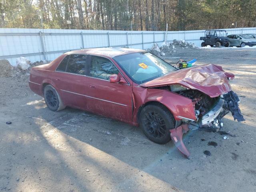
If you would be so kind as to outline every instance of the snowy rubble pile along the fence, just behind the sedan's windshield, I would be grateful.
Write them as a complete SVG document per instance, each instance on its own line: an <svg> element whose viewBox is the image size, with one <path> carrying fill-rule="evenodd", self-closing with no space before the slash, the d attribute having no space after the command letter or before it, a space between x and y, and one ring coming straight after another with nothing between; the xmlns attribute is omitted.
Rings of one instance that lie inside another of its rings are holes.
<svg viewBox="0 0 256 192"><path fill-rule="evenodd" d="M152 48L148 49L149 52L158 56L170 55L176 52L176 49L179 48L197 48L194 43L186 42L185 40L176 40L173 42L163 42L161 46L158 46L157 43L154 43Z"/></svg>

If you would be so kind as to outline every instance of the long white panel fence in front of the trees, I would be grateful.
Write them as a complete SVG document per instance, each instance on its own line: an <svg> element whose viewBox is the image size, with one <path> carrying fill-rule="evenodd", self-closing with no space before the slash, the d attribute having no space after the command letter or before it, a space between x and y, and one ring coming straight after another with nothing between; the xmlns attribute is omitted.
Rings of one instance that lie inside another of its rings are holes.
<svg viewBox="0 0 256 192"><path fill-rule="evenodd" d="M256 28L226 29L228 34L256 34ZM167 41L186 40L201 45L205 30L168 31ZM26 57L32 62L54 60L63 52L80 48L130 47L148 49L154 42L164 42L163 31L105 31L67 29L0 28L0 59L8 59L15 66L16 58Z"/></svg>

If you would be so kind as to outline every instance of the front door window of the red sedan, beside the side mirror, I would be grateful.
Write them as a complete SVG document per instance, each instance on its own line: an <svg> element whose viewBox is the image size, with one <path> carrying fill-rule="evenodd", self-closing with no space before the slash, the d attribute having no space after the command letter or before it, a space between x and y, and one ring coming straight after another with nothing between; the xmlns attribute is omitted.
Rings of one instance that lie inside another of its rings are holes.
<svg viewBox="0 0 256 192"><path fill-rule="evenodd" d="M90 76L109 80L112 74L118 74L118 69L114 64L107 58L92 56L90 64Z"/></svg>

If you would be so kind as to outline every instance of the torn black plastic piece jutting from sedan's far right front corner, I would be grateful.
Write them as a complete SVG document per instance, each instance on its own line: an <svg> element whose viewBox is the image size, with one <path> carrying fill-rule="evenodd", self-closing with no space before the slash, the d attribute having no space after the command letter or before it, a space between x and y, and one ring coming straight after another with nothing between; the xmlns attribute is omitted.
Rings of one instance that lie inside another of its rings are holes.
<svg viewBox="0 0 256 192"><path fill-rule="evenodd" d="M232 113L234 120L238 122L245 121L244 116L241 114L241 110L239 108L240 99L234 91L230 91L223 95L224 100L226 101L226 106L223 108L227 108Z"/></svg>

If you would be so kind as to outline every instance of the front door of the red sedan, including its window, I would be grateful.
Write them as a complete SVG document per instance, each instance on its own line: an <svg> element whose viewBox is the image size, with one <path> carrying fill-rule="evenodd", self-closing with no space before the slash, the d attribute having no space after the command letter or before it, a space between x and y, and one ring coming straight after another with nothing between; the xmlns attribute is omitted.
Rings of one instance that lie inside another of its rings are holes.
<svg viewBox="0 0 256 192"><path fill-rule="evenodd" d="M110 83L110 75L122 74L108 59L91 56L90 74L86 77L88 110L125 122L132 122L132 86Z"/></svg>

